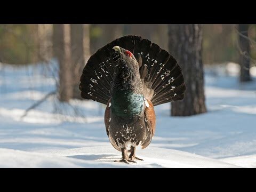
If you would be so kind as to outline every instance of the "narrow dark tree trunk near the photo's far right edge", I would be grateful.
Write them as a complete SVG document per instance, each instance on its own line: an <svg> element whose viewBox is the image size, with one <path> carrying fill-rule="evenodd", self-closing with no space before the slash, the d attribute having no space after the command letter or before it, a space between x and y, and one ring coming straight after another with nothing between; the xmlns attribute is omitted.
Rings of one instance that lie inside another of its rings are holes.
<svg viewBox="0 0 256 192"><path fill-rule="evenodd" d="M239 33L248 37L248 24L239 24ZM240 82L251 81L250 77L250 44L249 40L245 37L239 35L239 48L243 52L239 55L239 64L241 66L240 70Z"/></svg>

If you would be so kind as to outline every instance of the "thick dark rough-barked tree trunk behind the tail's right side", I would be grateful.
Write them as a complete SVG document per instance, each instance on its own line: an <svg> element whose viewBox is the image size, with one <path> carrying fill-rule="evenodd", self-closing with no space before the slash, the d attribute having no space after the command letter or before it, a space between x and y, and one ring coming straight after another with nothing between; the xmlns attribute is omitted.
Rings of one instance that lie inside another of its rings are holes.
<svg viewBox="0 0 256 192"><path fill-rule="evenodd" d="M202 63L202 25L169 25L169 50L177 59L187 91L182 101L172 102L172 116L189 116L206 112Z"/></svg>

